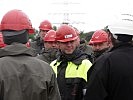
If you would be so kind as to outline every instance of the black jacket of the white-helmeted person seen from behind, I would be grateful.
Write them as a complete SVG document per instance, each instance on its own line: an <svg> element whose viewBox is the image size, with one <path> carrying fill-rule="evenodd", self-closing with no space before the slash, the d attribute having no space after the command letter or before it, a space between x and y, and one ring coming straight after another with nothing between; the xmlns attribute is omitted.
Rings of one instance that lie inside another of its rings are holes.
<svg viewBox="0 0 133 100"><path fill-rule="evenodd" d="M133 99L133 47L120 44L100 56L88 72L85 100Z"/></svg>

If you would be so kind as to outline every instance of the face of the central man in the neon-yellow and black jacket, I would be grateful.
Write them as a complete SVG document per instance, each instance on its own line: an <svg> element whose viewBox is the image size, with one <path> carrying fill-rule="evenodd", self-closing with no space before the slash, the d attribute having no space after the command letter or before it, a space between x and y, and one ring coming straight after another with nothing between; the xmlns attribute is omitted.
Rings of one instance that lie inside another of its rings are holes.
<svg viewBox="0 0 133 100"><path fill-rule="evenodd" d="M77 47L77 40L69 42L59 42L59 49L65 54L72 54Z"/></svg>

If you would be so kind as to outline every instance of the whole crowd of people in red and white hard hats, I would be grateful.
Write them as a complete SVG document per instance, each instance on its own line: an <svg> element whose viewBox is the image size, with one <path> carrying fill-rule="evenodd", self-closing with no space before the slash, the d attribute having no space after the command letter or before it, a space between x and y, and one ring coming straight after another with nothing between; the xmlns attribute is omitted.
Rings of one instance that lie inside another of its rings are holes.
<svg viewBox="0 0 133 100"><path fill-rule="evenodd" d="M8 11L0 23L0 100L132 100L133 16L121 16L89 43L73 26L55 31L44 20L35 56L26 45L34 33L29 17Z"/></svg>

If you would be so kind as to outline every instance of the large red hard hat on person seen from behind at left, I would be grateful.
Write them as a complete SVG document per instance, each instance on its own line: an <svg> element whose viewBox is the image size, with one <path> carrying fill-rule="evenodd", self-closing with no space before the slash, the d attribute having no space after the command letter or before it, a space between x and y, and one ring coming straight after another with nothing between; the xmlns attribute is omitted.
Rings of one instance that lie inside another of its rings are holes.
<svg viewBox="0 0 133 100"><path fill-rule="evenodd" d="M8 11L1 20L0 30L29 30L29 32L33 33L34 29L32 28L32 24L28 16L23 13L21 10L11 10Z"/></svg>

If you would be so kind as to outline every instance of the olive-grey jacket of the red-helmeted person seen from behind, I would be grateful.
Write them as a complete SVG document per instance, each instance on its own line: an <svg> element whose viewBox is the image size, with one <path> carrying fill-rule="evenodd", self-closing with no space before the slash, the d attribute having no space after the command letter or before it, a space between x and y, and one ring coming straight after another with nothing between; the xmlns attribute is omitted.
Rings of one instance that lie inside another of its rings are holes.
<svg viewBox="0 0 133 100"><path fill-rule="evenodd" d="M0 100L60 100L51 67L24 44L0 49Z"/></svg>

